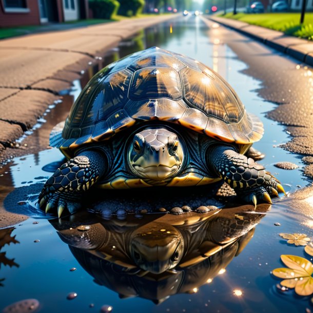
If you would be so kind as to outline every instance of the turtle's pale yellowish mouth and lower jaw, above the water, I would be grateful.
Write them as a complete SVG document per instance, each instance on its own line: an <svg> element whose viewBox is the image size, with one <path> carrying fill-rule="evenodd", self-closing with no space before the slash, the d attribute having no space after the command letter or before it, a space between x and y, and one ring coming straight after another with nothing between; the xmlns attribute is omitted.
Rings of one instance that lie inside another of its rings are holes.
<svg viewBox="0 0 313 313"><path fill-rule="evenodd" d="M136 172L142 175L144 178L149 178L153 180L162 180L170 177L171 175L177 173L180 169L180 165L151 165L147 167L142 167L140 165L133 165Z"/></svg>

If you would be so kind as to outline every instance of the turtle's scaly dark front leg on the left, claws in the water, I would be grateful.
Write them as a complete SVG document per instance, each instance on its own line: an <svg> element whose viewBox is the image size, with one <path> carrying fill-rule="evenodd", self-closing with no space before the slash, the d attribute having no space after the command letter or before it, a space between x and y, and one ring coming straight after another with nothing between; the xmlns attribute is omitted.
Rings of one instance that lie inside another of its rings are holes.
<svg viewBox="0 0 313 313"><path fill-rule="evenodd" d="M38 203L46 213L57 210L60 218L65 208L73 214L81 207L82 197L107 168L105 156L98 151L84 151L58 168L47 180Z"/></svg>

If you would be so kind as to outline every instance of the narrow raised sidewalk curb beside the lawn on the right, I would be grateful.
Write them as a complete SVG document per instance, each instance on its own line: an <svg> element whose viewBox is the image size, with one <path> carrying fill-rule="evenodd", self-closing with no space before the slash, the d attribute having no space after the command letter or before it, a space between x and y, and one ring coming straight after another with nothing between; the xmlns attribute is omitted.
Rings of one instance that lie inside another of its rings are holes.
<svg viewBox="0 0 313 313"><path fill-rule="evenodd" d="M263 44L284 52L297 60L313 66L313 42L305 39L287 36L283 32L271 30L261 26L250 25L236 19L205 16L213 22L217 22L231 29L250 36ZM204 18L204 21L205 21Z"/></svg>

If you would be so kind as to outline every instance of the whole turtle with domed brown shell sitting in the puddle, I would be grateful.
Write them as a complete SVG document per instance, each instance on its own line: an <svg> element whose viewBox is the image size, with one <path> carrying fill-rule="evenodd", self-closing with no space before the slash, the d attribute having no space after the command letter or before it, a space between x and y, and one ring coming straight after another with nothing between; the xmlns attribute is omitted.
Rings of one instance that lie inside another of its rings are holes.
<svg viewBox="0 0 313 313"><path fill-rule="evenodd" d="M76 212L93 185L186 187L220 180L245 202L271 203L283 186L245 156L263 132L260 119L204 64L158 47L138 51L96 73L66 121L52 129L50 146L68 161L47 180L38 203L61 217L65 209Z"/></svg>

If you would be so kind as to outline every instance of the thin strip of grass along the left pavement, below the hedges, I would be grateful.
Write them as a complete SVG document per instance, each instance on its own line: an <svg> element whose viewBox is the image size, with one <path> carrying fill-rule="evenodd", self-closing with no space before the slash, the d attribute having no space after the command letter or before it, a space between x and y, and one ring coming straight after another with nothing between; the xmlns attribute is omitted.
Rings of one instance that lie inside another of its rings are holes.
<svg viewBox="0 0 313 313"><path fill-rule="evenodd" d="M167 14L167 13L163 13ZM160 14L160 15L163 15ZM63 29L71 29L75 27L84 27L89 25L96 25L102 23L109 23L109 22L117 22L122 21L128 18L142 18L142 17L154 17L159 16L158 14L139 14L138 16L126 17L122 15L115 15L112 19L101 19L101 18L89 18L89 19L79 19L78 21L68 21L64 23L56 23L53 27L47 25L30 25L30 26L18 26L18 27L11 27L11 28L0 28L0 40L15 37L20 35L26 35L31 33L38 33L44 31L57 31Z"/></svg>

